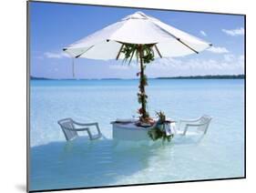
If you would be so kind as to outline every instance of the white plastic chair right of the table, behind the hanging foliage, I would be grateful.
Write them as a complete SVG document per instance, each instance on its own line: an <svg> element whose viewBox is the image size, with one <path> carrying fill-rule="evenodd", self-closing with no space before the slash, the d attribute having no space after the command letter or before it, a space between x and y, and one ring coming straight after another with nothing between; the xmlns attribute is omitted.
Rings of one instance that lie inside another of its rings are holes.
<svg viewBox="0 0 256 193"><path fill-rule="evenodd" d="M197 127L197 130L200 132L203 132L203 134L207 133L207 130L210 125L212 117L204 115L202 117L199 117L197 119L190 119L190 120L179 120L179 134L185 136L188 132L189 127ZM184 129L181 129L181 125L185 124Z"/></svg>

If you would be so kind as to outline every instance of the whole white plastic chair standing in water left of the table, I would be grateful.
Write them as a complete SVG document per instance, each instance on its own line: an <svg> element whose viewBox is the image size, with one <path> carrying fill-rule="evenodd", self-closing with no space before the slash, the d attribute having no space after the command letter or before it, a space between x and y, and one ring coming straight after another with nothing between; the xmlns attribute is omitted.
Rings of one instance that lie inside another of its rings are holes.
<svg viewBox="0 0 256 193"><path fill-rule="evenodd" d="M64 118L59 120L57 123L62 128L62 131L67 141L77 138L77 131L87 131L90 140L97 139L102 136L97 123L78 123L72 118ZM97 128L97 135L93 136L91 134L91 131L89 129L89 127L91 126L95 126Z"/></svg>

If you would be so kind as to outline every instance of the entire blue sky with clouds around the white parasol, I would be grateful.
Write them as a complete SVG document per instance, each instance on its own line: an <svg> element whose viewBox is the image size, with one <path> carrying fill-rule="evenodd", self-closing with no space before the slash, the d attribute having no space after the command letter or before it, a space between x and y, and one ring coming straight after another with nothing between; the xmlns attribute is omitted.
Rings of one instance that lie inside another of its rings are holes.
<svg viewBox="0 0 256 193"><path fill-rule="evenodd" d="M136 11L159 18L213 44L199 55L158 59L149 77L244 73L244 17L92 5L30 3L31 75L72 78L71 58L62 48ZM135 78L138 66L121 61L75 59L76 78Z"/></svg>

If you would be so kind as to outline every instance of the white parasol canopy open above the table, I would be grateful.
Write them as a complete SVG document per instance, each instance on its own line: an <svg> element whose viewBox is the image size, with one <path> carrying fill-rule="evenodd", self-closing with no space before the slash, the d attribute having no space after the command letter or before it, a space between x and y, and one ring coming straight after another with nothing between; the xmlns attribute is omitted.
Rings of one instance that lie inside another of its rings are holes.
<svg viewBox="0 0 256 193"><path fill-rule="evenodd" d="M156 53L155 58L198 54L211 46L210 43L167 25L157 18L136 12L63 50L76 58L122 59L123 44L154 45L152 49Z"/></svg>

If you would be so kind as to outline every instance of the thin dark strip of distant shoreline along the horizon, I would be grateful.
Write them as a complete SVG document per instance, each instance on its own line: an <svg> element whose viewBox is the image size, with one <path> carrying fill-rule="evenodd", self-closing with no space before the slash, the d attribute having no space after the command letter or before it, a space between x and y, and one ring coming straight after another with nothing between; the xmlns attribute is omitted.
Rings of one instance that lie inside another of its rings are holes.
<svg viewBox="0 0 256 193"><path fill-rule="evenodd" d="M207 76L170 76L170 77L149 77L148 79L244 79L244 75L207 75ZM136 80L136 78L47 78L30 76L31 80Z"/></svg>

